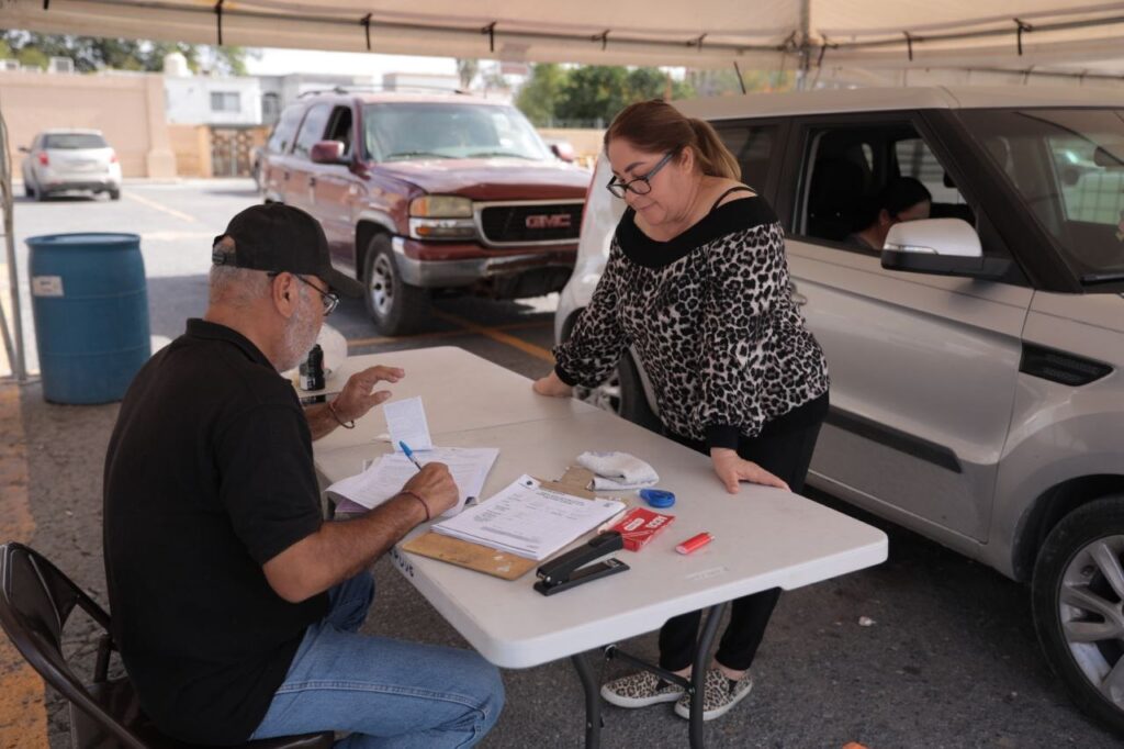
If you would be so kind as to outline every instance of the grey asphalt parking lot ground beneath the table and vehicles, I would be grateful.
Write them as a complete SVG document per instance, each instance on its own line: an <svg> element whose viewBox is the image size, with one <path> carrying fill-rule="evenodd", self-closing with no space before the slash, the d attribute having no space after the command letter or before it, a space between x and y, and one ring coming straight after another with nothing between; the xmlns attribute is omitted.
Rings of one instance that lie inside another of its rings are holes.
<svg viewBox="0 0 1124 749"><path fill-rule="evenodd" d="M21 201L17 237L22 250L22 240L35 234L140 234L152 332L169 340L182 332L187 317L203 310L210 238L255 201L252 183L242 180L127 183L119 202ZM19 272L26 301L26 256ZM361 303L345 301L330 323L352 353L386 353L389 364L397 350L457 345L535 377L550 368L554 305L553 297L444 299L423 332L405 339L379 336ZM30 325L29 313L26 318ZM0 532L29 541L105 603L101 471L118 406L51 405L34 381L0 383ZM1070 703L1050 673L1024 586L830 497L813 496L886 530L889 560L781 597L753 668L753 693L707 724L707 746L1118 746ZM375 565L375 578L377 602L364 631L465 647L386 560ZM75 622L66 644L89 662L90 624ZM654 658L655 637L624 647ZM609 662L599 670L610 678L624 667ZM507 707L481 746L582 745L582 695L569 662L509 670L504 678ZM51 747L69 746L64 704L49 693L36 697L35 684L4 664L0 649L0 746L46 746L44 732ZM18 704L3 700L18 689L30 696ZM45 727L33 720L36 711L45 711ZM687 746L687 723L668 704L640 711L606 705L605 723L607 749Z"/></svg>

